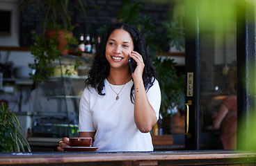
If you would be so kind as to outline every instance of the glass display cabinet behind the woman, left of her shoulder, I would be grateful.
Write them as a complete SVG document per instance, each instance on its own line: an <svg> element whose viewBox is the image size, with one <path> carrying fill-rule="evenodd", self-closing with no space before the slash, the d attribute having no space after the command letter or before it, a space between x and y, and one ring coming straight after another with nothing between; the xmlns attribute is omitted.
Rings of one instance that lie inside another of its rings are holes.
<svg viewBox="0 0 256 166"><path fill-rule="evenodd" d="M62 55L54 62L54 75L31 91L33 138L78 136L79 101L93 58L80 57L78 71L75 60L76 56Z"/></svg>

